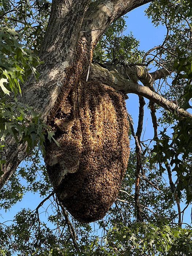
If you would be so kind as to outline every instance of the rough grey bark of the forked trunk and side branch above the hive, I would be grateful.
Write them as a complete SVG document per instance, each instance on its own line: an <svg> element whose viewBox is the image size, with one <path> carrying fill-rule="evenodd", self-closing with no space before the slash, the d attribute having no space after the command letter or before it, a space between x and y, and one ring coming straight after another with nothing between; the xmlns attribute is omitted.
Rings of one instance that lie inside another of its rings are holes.
<svg viewBox="0 0 192 256"><path fill-rule="evenodd" d="M80 77L86 77L91 67L88 79L106 83L125 94L136 93L154 99L155 103L171 111L177 110L181 116L189 116L187 111L177 109L174 103L155 94L149 87L126 79L121 72L109 72L98 65L91 65L94 47L106 28L120 16L149 2L151 1L53 0L48 28L41 46L40 59L44 64L38 67L39 80L30 76L23 85L23 96L19 98L19 102L33 106L35 111L42 114L44 122L48 123L54 118L61 99L67 97ZM142 80L138 72L135 74ZM146 77L143 76L143 81L145 79L149 84L151 77L153 80L153 75L147 74ZM26 157L25 143L18 146L12 138L8 138L6 143L6 150L2 154L6 163L2 165L4 174L0 178L0 188Z"/></svg>

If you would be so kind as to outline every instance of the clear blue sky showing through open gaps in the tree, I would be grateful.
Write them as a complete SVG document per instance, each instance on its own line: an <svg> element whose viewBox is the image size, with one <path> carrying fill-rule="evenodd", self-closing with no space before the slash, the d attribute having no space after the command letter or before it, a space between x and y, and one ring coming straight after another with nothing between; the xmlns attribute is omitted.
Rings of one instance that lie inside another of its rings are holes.
<svg viewBox="0 0 192 256"><path fill-rule="evenodd" d="M162 43L166 30L162 26L155 27L151 24L150 20L147 16L144 15L144 10L148 5L143 5L142 7L136 8L127 14L127 33L132 31L133 36L136 39L140 40L140 49L148 50ZM138 120L138 96L129 94L129 99L126 101L128 113L131 114L134 120L134 126L137 127ZM148 100L146 99L146 103ZM147 105L145 106L145 117L144 117L144 128L146 132L144 134L144 139L153 138L153 125L151 123L150 111L147 109ZM132 141L132 143L134 143ZM27 193L22 202L17 203L15 206L11 208L10 211L4 212L1 210L0 222L4 222L6 220L13 219L13 216L18 212L21 208L31 208L35 209L37 205L41 202L42 199L39 198L38 194L34 195L33 193ZM183 208L183 204L182 207ZM189 222L189 216L191 214L191 208L186 211L184 222Z"/></svg>

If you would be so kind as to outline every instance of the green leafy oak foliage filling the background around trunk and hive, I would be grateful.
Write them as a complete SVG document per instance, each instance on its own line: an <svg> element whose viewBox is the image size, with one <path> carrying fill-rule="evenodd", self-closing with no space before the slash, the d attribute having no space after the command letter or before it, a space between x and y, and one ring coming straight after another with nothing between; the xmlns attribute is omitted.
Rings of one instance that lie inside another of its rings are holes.
<svg viewBox="0 0 192 256"><path fill-rule="evenodd" d="M25 166L19 167L1 190L0 207L11 210L27 192L38 193L42 198L35 210L26 206L12 221L1 221L0 254L192 255L191 226L181 225L184 210L192 201L192 120L178 117L177 113L172 114L151 101L148 108L153 115L154 132L157 133L160 125L159 134L155 133L150 143L142 142L138 123L139 144L131 148L122 188L108 215L94 225L83 224L68 217L60 208L41 154L34 150L38 146L43 153L45 133L50 140L54 139L54 133L43 123L41 114L18 103L22 94L20 84L25 84L31 75L38 79L36 68L41 64L38 54L50 7L51 3L46 0L2 0L0 3L0 149L3 151L6 146L5 138L13 135L18 143L26 140L27 152L31 151ZM161 45L148 52L140 50L139 38L126 34L124 16L105 31L95 48L93 61L101 65L110 63L117 68L140 64L148 71L171 67L170 75L154 83L155 91L184 110L190 109L192 2L153 1L145 12L154 26L166 27L167 34ZM142 118L140 96L139 102ZM156 111L161 115L154 121ZM29 112L32 119L28 118ZM133 128L130 116L129 121ZM172 128L172 132L167 127ZM133 129L130 138L135 140ZM140 154L140 169L135 152ZM136 191L138 175L140 186ZM180 209L180 202L186 204L184 210ZM40 214L43 207L46 220Z"/></svg>

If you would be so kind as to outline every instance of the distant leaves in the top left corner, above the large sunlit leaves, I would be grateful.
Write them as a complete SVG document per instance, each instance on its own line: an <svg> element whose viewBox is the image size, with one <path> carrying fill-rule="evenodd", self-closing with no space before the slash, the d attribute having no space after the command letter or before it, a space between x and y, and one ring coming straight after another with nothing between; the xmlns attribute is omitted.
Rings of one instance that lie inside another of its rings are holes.
<svg viewBox="0 0 192 256"><path fill-rule="evenodd" d="M34 53L45 34L51 3L46 0L2 0L0 3L0 22L5 27L15 28L22 35L21 41Z"/></svg>

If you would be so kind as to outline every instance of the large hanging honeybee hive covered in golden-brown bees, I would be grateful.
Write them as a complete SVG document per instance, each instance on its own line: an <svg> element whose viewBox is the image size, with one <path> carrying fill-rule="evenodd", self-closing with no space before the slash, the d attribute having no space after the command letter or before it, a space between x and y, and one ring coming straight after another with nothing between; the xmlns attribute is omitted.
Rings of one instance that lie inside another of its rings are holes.
<svg viewBox="0 0 192 256"><path fill-rule="evenodd" d="M71 89L46 143L46 168L54 191L81 222L104 217L117 198L129 156L124 95L99 83Z"/></svg>

